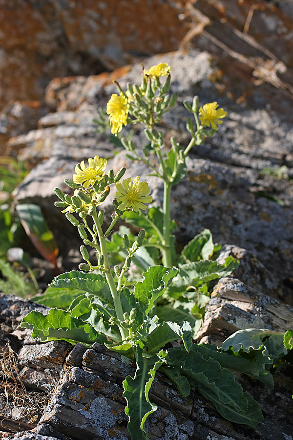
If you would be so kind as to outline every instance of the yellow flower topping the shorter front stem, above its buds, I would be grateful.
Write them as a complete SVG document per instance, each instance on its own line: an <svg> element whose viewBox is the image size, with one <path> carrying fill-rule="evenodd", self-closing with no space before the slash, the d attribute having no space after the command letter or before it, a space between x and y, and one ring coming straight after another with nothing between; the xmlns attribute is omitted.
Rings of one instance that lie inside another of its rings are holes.
<svg viewBox="0 0 293 440"><path fill-rule="evenodd" d="M99 156L95 156L93 159L88 159L88 167L84 165L84 160L76 165L75 172L72 180L74 183L78 183L83 185L84 188L88 188L90 185L93 185L95 182L99 182L102 180L103 176L105 176L105 168L107 161L106 159L102 159Z"/></svg>

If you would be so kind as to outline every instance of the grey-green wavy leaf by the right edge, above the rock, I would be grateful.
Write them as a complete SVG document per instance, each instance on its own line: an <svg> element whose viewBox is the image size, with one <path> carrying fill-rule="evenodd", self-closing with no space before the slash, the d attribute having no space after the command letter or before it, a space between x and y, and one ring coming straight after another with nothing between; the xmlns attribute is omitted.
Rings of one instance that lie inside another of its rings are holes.
<svg viewBox="0 0 293 440"><path fill-rule="evenodd" d="M250 352L251 348L257 350L264 346L264 356L277 360L287 354L283 338L283 332L267 329L238 330L223 342L222 350L226 351L232 347L235 352L239 352L241 348Z"/></svg>

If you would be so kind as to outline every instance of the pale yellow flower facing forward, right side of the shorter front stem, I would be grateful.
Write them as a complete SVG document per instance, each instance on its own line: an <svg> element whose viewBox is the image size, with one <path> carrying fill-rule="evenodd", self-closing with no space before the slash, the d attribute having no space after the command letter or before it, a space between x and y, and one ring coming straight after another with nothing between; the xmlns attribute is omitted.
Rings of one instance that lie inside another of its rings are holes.
<svg viewBox="0 0 293 440"><path fill-rule="evenodd" d="M140 209L146 209L144 203L150 203L152 196L148 196L150 189L146 182L139 182L140 176L136 176L131 186L131 178L124 179L122 183L116 183L115 198L120 203L119 209L133 209L138 212Z"/></svg>

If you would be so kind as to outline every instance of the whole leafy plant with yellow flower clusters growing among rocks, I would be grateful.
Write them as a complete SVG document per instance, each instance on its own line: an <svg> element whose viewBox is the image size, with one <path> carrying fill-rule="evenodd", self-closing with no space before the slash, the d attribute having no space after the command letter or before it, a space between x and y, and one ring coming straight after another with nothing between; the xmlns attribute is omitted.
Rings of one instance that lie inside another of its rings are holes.
<svg viewBox="0 0 293 440"><path fill-rule="evenodd" d="M73 196L56 188L60 201L55 205L65 208L66 218L77 226L84 242L80 250L85 263L79 265L81 272L61 274L51 285L60 288L61 294L64 289L66 292L73 290L75 296L68 310L52 308L48 315L32 311L22 322L23 326L33 329L33 337L81 342L88 347L98 342L136 362L135 376L128 375L123 382L132 440L148 439L145 421L156 409L150 403L148 392L159 368L177 384L182 395L188 396L191 384L209 398L224 417L252 428L262 419L261 411L235 382L230 372L234 368L233 356L238 356L238 371L269 385L273 382L269 371L272 359L267 357L260 362L262 354L256 350L256 356L253 347L249 347L248 356L245 344L241 344L241 335L237 333L236 346L227 340L228 353L211 349L208 344L192 343L209 300L209 282L228 276L237 267L237 262L232 257L224 264L215 261L208 229L176 254L172 236L176 223L170 221L171 189L186 174L186 159L191 148L215 133L227 112L219 109L216 102L199 108L198 98L194 97L192 104L184 103L194 117L187 119L188 145L180 145L174 138L168 143L161 120L177 100L176 94L169 94L169 87L170 66L160 63L143 69L140 86L128 84L123 91L118 85L119 94L113 94L107 104L112 133L117 135L124 125L131 123L145 127L147 143L142 150L136 149L130 139L121 138L121 142L130 159L144 162L151 175L162 179L163 208L150 206L146 215L142 212L152 201L150 189L147 182L140 181L140 176L136 176L132 184L130 177L121 181L125 168L116 175L113 170L105 173L106 160L99 156L88 159L88 166L84 161L78 164L73 179L65 179L74 190ZM113 213L110 220L109 216L105 216L105 220L103 203L111 197L112 185L116 186L116 194L112 197ZM137 237L125 226L113 232L121 218L140 229ZM92 254L96 256L95 261ZM114 255L115 262L109 255ZM131 262L144 270L134 282L137 271L129 275ZM81 293L76 297L77 289ZM252 333L245 341L251 340L253 345L255 337L257 348L271 337L267 333L260 336L260 331L267 330L247 331ZM293 331L286 340L289 341L292 335ZM181 344L170 348L169 343L176 340ZM245 358L243 369L242 354ZM265 365L269 366L266 370Z"/></svg>

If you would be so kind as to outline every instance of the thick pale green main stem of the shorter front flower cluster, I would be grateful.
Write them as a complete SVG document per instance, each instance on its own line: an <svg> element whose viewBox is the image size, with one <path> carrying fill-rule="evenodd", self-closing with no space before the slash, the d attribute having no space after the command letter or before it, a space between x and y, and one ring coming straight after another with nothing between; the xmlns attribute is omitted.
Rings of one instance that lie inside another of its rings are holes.
<svg viewBox="0 0 293 440"><path fill-rule="evenodd" d="M113 303L114 303L114 307L115 307L115 311L116 311L116 317L118 319L118 327L122 336L122 339L125 340L126 337L128 336L127 334L127 330L125 330L123 327L121 327L119 325L119 322L124 321L123 319L123 308L121 305L121 301L120 301L120 297L119 297L119 293L117 291L116 285L115 285L115 281L110 269L110 264L109 264L109 259L108 259L108 253L107 253L107 247L106 247L106 238L105 235L103 234L103 230L102 227L100 225L98 216L97 216L97 211L95 211L92 214L92 218L94 220L94 223L96 225L97 231L98 231L98 237L99 237L99 242L100 242L100 248L101 248L101 253L104 257L104 270L105 270L105 277L106 280L108 282L109 285L109 289L112 295L112 299L113 299Z"/></svg>

